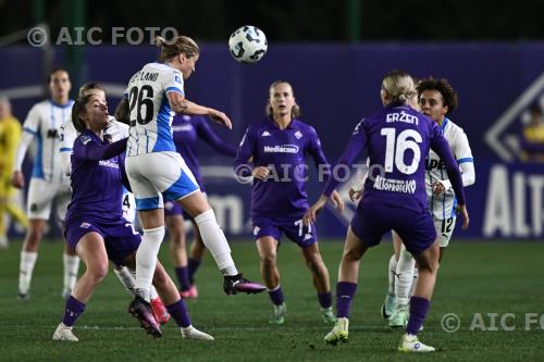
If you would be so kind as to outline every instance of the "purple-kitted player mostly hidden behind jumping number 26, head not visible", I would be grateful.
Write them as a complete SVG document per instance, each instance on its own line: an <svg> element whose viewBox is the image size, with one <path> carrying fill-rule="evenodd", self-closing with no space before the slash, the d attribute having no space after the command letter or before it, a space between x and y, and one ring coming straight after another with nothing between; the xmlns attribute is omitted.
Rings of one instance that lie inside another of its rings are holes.
<svg viewBox="0 0 544 362"><path fill-rule="evenodd" d="M208 117L206 116L176 114L172 121L172 132L177 153L182 155L187 167L193 172L200 191L206 194L197 155L198 140L202 139L219 153L233 158L236 155L236 147L223 141L210 127ZM198 290L195 285L194 275L198 266L200 266L205 251L205 245L198 232L198 226L190 215L182 211L180 204L172 201L164 202L164 216L171 237L170 250L174 260L175 274L180 283L180 294L183 298L197 298ZM195 233L195 240L190 246L190 257L188 260L185 250L184 217L188 217L191 221Z"/></svg>

